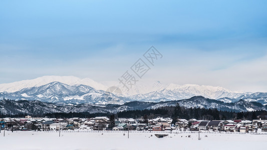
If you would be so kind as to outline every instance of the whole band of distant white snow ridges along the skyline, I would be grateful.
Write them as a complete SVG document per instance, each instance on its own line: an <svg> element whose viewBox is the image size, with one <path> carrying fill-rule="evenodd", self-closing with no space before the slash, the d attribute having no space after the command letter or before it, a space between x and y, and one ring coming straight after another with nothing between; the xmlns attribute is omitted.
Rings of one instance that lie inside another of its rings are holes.
<svg viewBox="0 0 267 150"><path fill-rule="evenodd" d="M127 88L123 88L122 84L118 81L102 82L105 84L103 85L102 83L98 83L90 78L80 79L75 76L42 76L35 79L4 83L0 84L0 92L16 92L24 88L38 87L55 81L68 85L88 85L98 90L106 90L110 86L118 86L125 96L132 96L137 99L183 99L190 98L194 95L203 95L208 98L218 99L222 97L236 98L242 95L242 93L230 91L218 86L215 87L195 84L178 85L173 83L164 84L160 81L138 81L136 82L136 85L132 86L132 88L128 91ZM151 96L151 94L155 95Z"/></svg>

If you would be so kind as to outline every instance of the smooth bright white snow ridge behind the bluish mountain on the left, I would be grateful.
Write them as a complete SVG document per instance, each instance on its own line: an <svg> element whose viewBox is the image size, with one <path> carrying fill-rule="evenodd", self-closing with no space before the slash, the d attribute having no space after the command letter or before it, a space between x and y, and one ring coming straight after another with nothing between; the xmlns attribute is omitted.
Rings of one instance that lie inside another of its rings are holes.
<svg viewBox="0 0 267 150"><path fill-rule="evenodd" d="M4 83L0 84L0 92L15 92L27 87L36 87L42 86L54 81L62 82L68 85L75 85L75 84L84 84L89 85L96 89L105 90L107 87L101 83L98 83L90 78L80 79L79 77L75 76L42 76L35 79L28 79L22 81L16 81L12 83Z"/></svg>

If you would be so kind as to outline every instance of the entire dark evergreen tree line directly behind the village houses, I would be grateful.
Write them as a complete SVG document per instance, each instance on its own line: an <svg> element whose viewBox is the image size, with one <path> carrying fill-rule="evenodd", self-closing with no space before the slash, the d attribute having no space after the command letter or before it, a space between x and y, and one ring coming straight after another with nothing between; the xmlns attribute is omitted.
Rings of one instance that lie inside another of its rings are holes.
<svg viewBox="0 0 267 150"><path fill-rule="evenodd" d="M0 113L1 114L1 113ZM26 113L16 114L16 115L0 115L0 117L25 117ZM31 114L29 114L31 115ZM117 117L143 117L144 121L147 122L148 118L155 118L157 116L161 117L171 117L173 121L177 121L177 118L184 119L204 119L204 120L225 120L225 119L256 119L259 116L261 119L267 119L266 110L256 110L256 111L244 111L244 112L235 112L235 111L226 111L214 109L206 109L199 107L186 108L180 106L178 103L175 106L162 106L155 109L144 109L144 110L124 110L120 111L117 114L113 113L90 113L90 112L55 112L55 113L45 113L32 115L33 117L55 117L55 118L71 118L71 117L83 117L90 118L96 116L108 116L112 120ZM113 125L113 124L112 124Z"/></svg>

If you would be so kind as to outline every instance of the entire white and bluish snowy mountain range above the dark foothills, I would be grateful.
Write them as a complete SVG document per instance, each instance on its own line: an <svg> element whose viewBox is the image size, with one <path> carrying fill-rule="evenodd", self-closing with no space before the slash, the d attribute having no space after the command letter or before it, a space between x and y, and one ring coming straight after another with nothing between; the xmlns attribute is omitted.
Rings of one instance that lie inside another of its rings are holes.
<svg viewBox="0 0 267 150"><path fill-rule="evenodd" d="M106 83L106 84L105 84ZM122 93L110 93L110 86L118 86ZM223 102L257 101L267 104L267 93L235 92L219 86L195 84L163 84L160 81L138 82L127 91L118 82L96 82L75 76L43 76L0 84L0 99L40 100L54 103L123 104L129 101L171 101L204 96Z"/></svg>

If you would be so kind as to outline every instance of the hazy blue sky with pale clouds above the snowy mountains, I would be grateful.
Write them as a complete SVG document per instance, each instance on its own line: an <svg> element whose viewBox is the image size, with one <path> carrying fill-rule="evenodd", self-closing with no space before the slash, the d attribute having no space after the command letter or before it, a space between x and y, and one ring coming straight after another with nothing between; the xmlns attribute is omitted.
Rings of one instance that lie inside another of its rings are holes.
<svg viewBox="0 0 267 150"><path fill-rule="evenodd" d="M117 80L154 45L142 80L267 92L266 0L2 0L0 83Z"/></svg>

